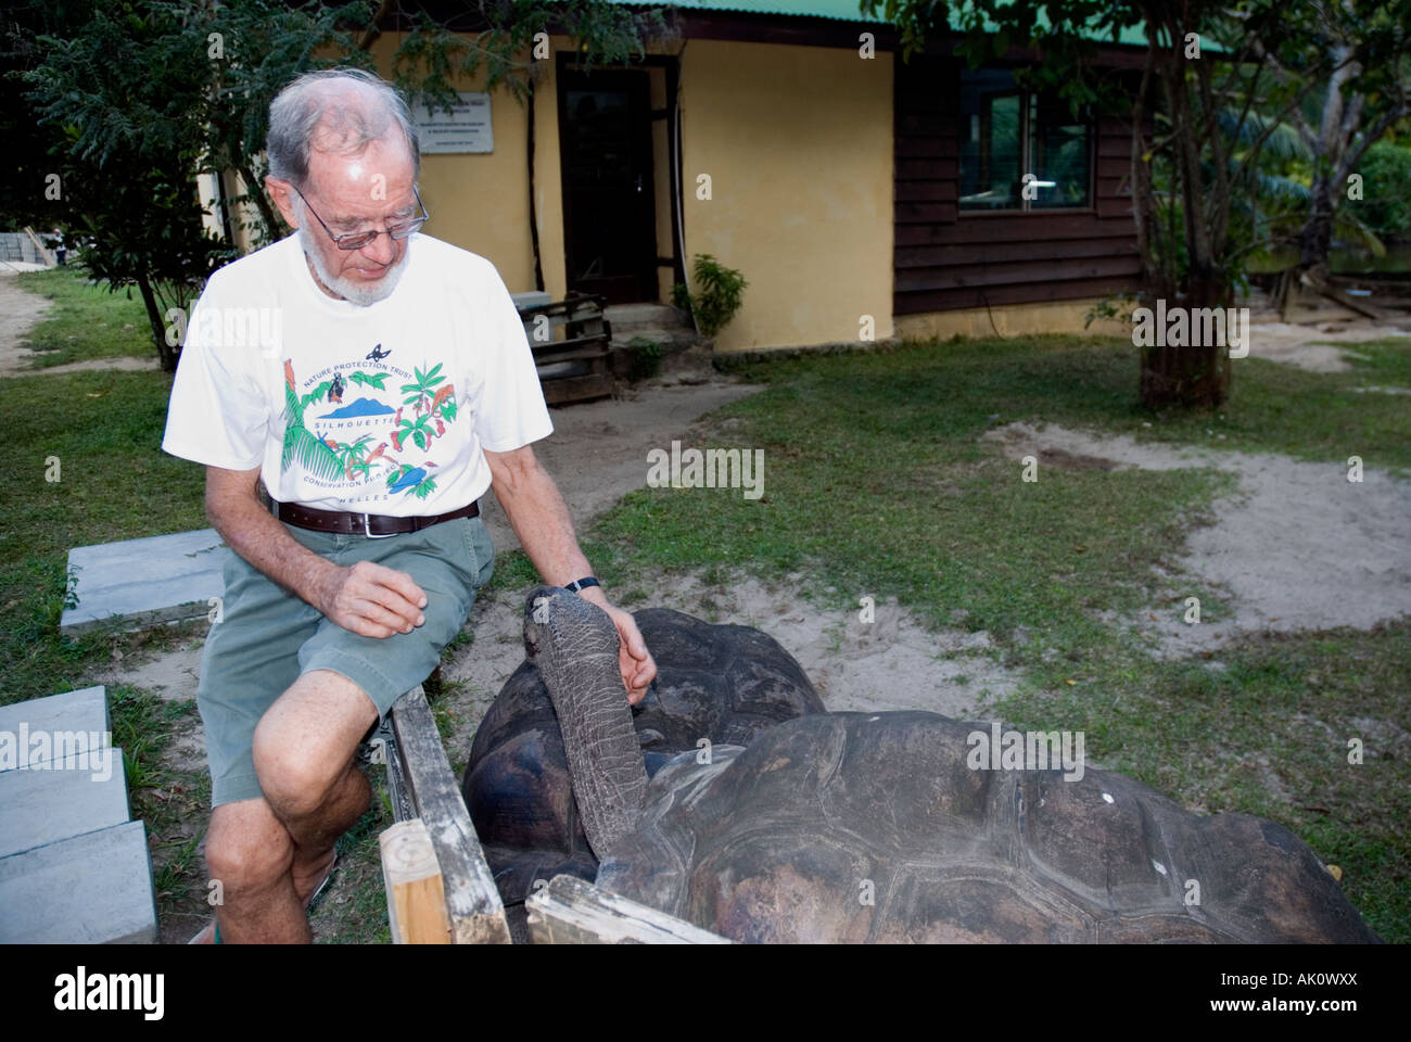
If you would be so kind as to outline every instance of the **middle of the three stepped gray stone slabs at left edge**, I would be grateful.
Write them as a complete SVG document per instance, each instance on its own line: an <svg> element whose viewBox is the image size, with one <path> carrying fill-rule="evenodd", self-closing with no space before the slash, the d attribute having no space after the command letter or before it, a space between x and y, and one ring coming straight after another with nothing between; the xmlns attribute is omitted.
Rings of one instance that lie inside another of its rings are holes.
<svg viewBox="0 0 1411 1042"><path fill-rule="evenodd" d="M0 857L127 820L123 750L104 747L0 774Z"/></svg>

